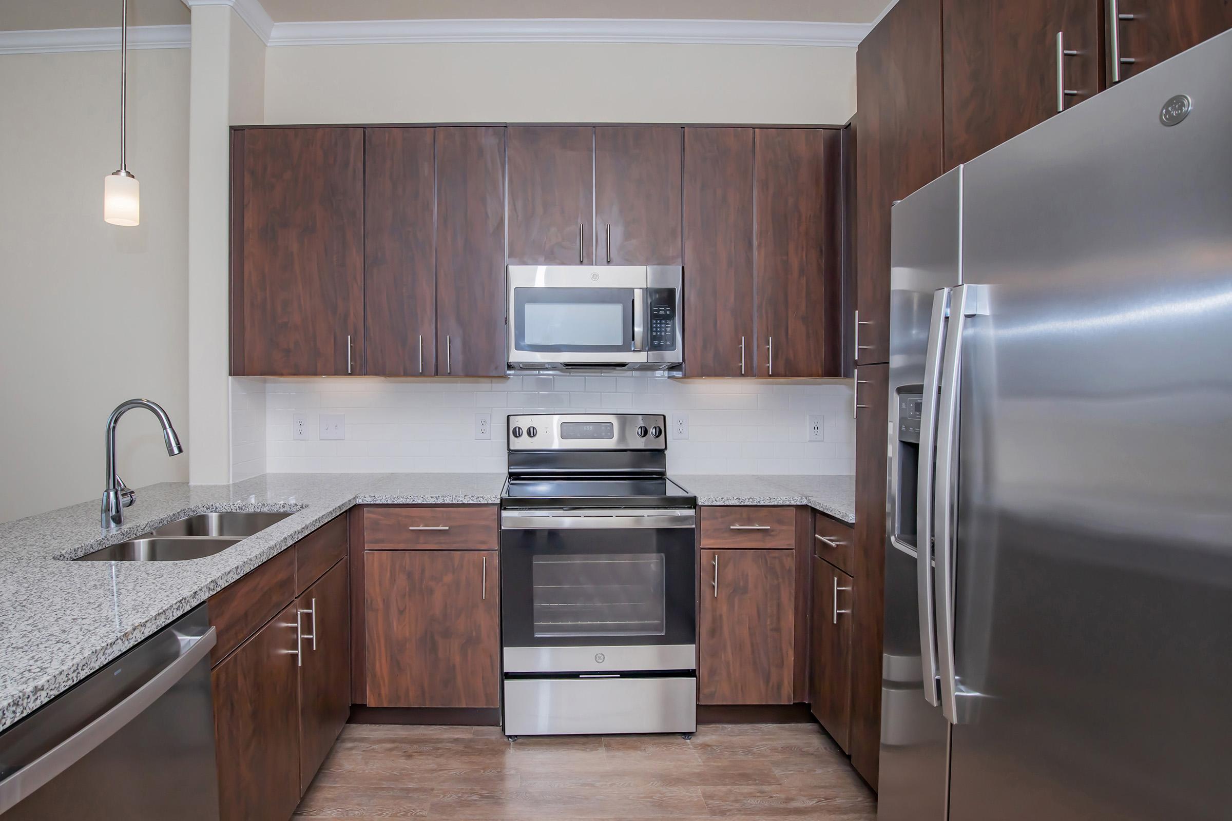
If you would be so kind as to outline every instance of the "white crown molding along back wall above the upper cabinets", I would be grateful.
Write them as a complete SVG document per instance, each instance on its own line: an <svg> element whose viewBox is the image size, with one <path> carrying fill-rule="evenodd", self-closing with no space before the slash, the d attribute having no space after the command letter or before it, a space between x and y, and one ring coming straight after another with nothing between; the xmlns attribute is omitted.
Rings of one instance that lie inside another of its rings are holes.
<svg viewBox="0 0 1232 821"><path fill-rule="evenodd" d="M190 5L201 1L222 0L185 0ZM274 23L267 43L721 43L854 48L869 31L870 26L862 23L776 20L352 20Z"/></svg>

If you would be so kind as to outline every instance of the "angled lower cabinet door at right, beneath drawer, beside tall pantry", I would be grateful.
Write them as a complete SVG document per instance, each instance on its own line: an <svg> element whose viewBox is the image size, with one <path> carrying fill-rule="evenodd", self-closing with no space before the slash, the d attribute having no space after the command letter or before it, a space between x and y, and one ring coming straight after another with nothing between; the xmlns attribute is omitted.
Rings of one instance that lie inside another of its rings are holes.
<svg viewBox="0 0 1232 821"><path fill-rule="evenodd" d="M808 700L844 752L851 721L851 576L813 556Z"/></svg>

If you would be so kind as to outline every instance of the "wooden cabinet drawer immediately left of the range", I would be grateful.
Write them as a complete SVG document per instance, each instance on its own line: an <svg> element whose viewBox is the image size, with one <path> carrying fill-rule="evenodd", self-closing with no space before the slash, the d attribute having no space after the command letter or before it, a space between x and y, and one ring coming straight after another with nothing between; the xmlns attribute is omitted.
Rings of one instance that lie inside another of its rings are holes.
<svg viewBox="0 0 1232 821"><path fill-rule="evenodd" d="M495 550L496 507L368 507L366 550Z"/></svg>

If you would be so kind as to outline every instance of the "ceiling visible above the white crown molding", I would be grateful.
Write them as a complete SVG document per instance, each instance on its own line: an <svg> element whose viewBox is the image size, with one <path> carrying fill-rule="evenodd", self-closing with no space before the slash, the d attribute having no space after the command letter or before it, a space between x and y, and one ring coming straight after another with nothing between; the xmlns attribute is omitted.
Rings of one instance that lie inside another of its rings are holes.
<svg viewBox="0 0 1232 821"><path fill-rule="evenodd" d="M872 22L890 0L261 0L274 22L338 20L792 20ZM0 31L120 25L121 0L0 0ZM128 0L131 26L188 22L182 0Z"/></svg>

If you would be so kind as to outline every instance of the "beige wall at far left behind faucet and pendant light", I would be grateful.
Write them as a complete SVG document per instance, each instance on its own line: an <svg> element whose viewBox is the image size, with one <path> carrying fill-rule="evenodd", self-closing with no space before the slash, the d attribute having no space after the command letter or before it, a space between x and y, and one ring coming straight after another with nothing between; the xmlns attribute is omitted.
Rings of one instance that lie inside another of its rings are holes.
<svg viewBox="0 0 1232 821"><path fill-rule="evenodd" d="M132 396L187 425L188 52L129 55L142 224L102 222L120 164L117 52L0 55L0 521L102 494L107 414ZM118 428L129 485L184 480L144 411Z"/></svg>

